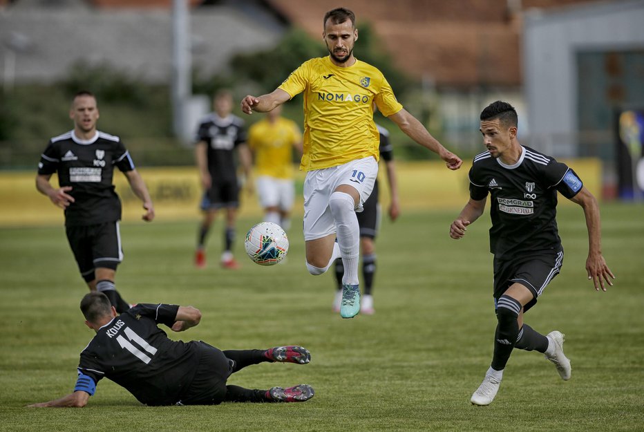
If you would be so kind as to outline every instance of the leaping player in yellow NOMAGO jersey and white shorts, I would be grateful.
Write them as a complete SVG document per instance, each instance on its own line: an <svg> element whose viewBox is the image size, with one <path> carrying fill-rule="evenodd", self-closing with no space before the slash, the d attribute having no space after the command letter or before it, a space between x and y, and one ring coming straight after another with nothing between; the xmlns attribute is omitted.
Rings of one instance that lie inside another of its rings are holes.
<svg viewBox="0 0 644 432"><path fill-rule="evenodd" d="M353 55L358 39L355 15L348 9L324 16L322 37L328 57L310 59L272 93L247 95L242 111L267 112L304 92L304 142L301 169L304 183L306 266L322 274L339 256L344 265L340 315L360 310L358 288L359 225L378 174L379 134L372 104L415 142L437 153L449 169L462 160L440 144L408 113L375 67ZM337 236L337 243L336 243Z"/></svg>

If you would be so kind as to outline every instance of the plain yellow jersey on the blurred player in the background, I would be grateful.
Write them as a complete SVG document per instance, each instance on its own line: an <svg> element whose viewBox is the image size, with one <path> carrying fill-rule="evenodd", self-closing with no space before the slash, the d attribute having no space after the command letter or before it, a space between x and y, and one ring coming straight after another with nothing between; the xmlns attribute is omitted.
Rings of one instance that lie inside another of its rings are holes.
<svg viewBox="0 0 644 432"><path fill-rule="evenodd" d="M248 131L258 176L293 177L293 145L302 140L294 121L278 117L274 123L263 118Z"/></svg>

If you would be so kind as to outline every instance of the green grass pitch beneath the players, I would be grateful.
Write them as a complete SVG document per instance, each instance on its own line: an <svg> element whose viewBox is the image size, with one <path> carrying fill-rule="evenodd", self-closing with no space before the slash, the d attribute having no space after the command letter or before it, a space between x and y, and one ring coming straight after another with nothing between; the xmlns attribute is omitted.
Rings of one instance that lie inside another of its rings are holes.
<svg viewBox="0 0 644 432"><path fill-rule="evenodd" d="M140 405L104 380L83 409L25 408L73 390L79 352L93 332L78 309L86 292L63 227L0 228L0 431L637 431L644 430L644 207L602 207L603 252L617 279L596 292L584 264L582 210L563 206L562 273L526 321L561 330L572 362L563 382L538 353L515 350L491 406L469 403L489 366L489 213L453 241L457 214L383 220L377 240L376 314L343 320L331 311L333 276L310 276L294 218L287 262L222 270L220 221L209 266L192 263L197 221L122 225L117 288L131 302L192 305L200 326L174 339L218 348L301 344L308 365L261 364L229 383L252 388L311 384L304 404Z"/></svg>

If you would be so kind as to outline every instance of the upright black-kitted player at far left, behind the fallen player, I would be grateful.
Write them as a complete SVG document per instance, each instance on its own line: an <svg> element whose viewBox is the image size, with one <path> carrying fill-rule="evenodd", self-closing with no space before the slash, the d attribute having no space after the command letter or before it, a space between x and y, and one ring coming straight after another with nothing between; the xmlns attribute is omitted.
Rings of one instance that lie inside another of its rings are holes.
<svg viewBox="0 0 644 432"><path fill-rule="evenodd" d="M143 179L120 138L96 130L96 98L80 91L69 114L74 129L52 138L40 158L36 187L65 210L67 239L90 290L104 292L118 312L129 308L115 289L116 267L123 259L119 220L121 202L112 184L114 167L126 176L143 202L143 220L154 207ZM59 187L50 184L58 173Z"/></svg>

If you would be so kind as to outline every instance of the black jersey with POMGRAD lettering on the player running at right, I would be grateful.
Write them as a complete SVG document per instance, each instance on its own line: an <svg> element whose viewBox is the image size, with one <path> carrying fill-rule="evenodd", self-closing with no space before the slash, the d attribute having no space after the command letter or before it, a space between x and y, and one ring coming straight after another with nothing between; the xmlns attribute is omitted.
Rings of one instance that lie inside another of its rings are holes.
<svg viewBox="0 0 644 432"><path fill-rule="evenodd" d="M522 147L511 166L486 151L475 156L469 179L473 200L491 196L490 250L495 256L561 249L557 191L572 198L583 187L567 165L529 147Z"/></svg>

